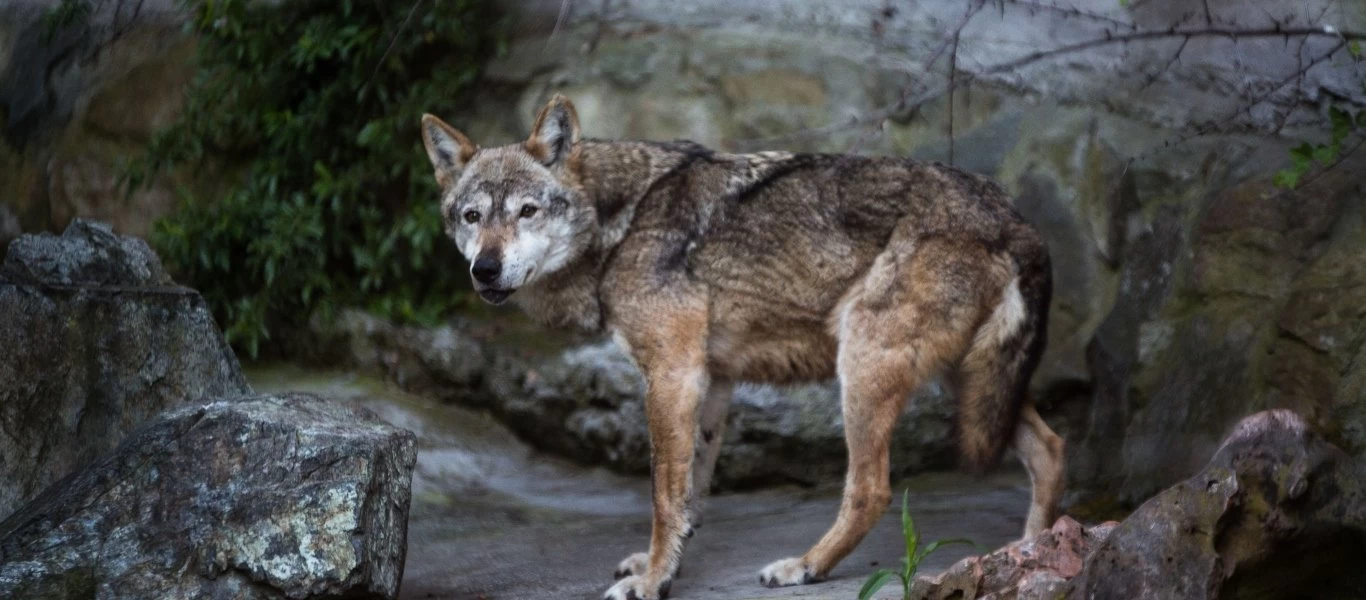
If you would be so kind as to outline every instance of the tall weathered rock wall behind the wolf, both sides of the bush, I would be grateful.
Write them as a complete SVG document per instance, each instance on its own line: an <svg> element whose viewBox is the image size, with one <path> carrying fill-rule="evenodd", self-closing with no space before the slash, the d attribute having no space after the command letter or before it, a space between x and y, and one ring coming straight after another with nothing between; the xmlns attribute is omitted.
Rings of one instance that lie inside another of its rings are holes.
<svg viewBox="0 0 1366 600"><path fill-rule="evenodd" d="M0 194L11 212L0 210L0 232L7 221L53 228L92 213L145 232L171 206L171 182L123 200L109 193L111 165L173 115L193 41L164 27L173 14L154 12L94 56L40 52L56 108L40 111L48 126L25 124L10 82L37 46L8 16L27 10L31 25L42 4L0 1L0 105L10 111ZM1268 182L1291 145L1322 135L1326 101L1366 105L1344 53L1280 85L1336 38L1111 44L996 68L1123 34L1124 23L1265 27L1288 18L1363 30L1366 4L986 3L960 36L958 66L974 79L951 108L936 93L941 49L967 5L519 0L515 37L478 97L432 112L477 142L501 144L525 135L534 108L563 92L596 137L952 153L1016 194L1055 254L1050 350L1035 396L1070 440L1074 488L1132 503L1193 473L1239 417L1268 407L1295 409L1366 452L1366 165L1352 159L1296 193ZM1244 111L1249 97L1265 101ZM1193 127L1220 133L1191 138Z"/></svg>

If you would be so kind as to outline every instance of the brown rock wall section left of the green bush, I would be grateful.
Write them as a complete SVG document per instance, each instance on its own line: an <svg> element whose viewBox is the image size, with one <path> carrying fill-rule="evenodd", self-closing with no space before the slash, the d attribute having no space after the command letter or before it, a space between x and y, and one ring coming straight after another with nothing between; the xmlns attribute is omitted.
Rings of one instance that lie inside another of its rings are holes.
<svg viewBox="0 0 1366 600"><path fill-rule="evenodd" d="M171 0L94 3L87 25L49 34L56 4L0 1L0 242L15 235L5 219L61 231L79 216L145 236L187 182L127 195L119 165L179 113L194 41Z"/></svg>

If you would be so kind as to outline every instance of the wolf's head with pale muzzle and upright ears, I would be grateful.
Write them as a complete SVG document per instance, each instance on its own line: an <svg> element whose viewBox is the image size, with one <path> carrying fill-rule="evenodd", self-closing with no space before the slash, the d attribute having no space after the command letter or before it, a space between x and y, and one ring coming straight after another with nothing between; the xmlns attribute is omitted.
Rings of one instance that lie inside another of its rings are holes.
<svg viewBox="0 0 1366 600"><path fill-rule="evenodd" d="M590 245L597 217L575 175L579 118L566 97L550 98L520 144L479 148L432 115L422 116L422 142L447 234L485 301L503 303Z"/></svg>

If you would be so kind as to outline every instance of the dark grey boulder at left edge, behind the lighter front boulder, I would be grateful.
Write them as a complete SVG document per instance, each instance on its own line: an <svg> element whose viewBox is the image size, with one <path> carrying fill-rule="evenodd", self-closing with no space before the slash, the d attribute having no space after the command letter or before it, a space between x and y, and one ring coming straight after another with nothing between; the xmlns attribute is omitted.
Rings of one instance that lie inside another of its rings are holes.
<svg viewBox="0 0 1366 600"><path fill-rule="evenodd" d="M0 517L163 410L250 391L204 298L98 223L14 241L0 314Z"/></svg>

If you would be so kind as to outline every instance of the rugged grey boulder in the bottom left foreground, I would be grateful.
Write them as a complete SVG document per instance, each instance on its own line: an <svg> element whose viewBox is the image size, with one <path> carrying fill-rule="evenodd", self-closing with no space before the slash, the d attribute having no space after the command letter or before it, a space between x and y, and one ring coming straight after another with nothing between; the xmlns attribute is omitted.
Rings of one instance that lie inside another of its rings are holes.
<svg viewBox="0 0 1366 600"><path fill-rule="evenodd" d="M392 599L415 459L311 395L180 407L0 522L0 597Z"/></svg>

